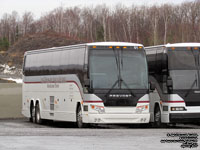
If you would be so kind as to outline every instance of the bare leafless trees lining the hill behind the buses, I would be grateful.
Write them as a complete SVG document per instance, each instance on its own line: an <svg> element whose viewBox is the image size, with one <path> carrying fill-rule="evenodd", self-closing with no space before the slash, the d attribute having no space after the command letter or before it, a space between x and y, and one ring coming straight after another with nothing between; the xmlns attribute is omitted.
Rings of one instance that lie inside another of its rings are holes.
<svg viewBox="0 0 200 150"><path fill-rule="evenodd" d="M58 7L39 19L15 11L0 19L0 50L26 35L53 31L86 42L125 41L145 46L200 41L200 0L179 5Z"/></svg>

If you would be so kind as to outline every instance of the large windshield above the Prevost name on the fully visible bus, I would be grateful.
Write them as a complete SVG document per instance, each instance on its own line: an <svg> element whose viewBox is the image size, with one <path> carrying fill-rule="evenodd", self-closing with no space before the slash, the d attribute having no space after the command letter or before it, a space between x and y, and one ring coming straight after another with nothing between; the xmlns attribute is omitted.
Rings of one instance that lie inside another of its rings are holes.
<svg viewBox="0 0 200 150"><path fill-rule="evenodd" d="M89 69L94 89L148 88L147 62L143 50L91 49Z"/></svg>

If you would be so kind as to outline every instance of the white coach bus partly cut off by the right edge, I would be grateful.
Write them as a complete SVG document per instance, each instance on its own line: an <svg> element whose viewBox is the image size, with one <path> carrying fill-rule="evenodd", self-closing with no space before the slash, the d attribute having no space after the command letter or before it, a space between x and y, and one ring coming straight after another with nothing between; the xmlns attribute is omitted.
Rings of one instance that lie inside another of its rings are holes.
<svg viewBox="0 0 200 150"><path fill-rule="evenodd" d="M151 122L200 121L200 43L176 43L145 47L149 80Z"/></svg>

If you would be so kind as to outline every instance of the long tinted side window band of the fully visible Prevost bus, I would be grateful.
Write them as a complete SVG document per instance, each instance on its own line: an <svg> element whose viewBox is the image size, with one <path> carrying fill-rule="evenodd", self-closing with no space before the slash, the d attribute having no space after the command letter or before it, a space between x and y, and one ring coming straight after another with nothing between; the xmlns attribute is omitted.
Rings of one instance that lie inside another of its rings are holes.
<svg viewBox="0 0 200 150"><path fill-rule="evenodd" d="M27 76L77 74L82 73L85 47L26 56L25 72ZM81 77L82 78L82 77Z"/></svg>

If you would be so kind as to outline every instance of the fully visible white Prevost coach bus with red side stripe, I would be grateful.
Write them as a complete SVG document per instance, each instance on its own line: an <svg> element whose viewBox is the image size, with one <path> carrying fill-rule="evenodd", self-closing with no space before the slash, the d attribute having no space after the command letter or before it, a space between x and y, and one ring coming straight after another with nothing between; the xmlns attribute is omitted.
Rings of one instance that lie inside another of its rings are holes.
<svg viewBox="0 0 200 150"><path fill-rule="evenodd" d="M23 64L22 114L92 124L149 123L144 47L97 42L28 51Z"/></svg>

